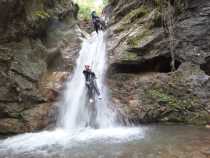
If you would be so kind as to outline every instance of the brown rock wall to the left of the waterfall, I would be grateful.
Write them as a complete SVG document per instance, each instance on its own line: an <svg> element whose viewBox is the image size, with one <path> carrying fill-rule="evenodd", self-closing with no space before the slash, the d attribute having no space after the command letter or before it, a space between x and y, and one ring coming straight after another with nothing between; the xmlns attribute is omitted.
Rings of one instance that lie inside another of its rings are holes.
<svg viewBox="0 0 210 158"><path fill-rule="evenodd" d="M55 85L79 49L77 11L71 0L0 2L0 134L55 122ZM52 77L55 72L60 75Z"/></svg>

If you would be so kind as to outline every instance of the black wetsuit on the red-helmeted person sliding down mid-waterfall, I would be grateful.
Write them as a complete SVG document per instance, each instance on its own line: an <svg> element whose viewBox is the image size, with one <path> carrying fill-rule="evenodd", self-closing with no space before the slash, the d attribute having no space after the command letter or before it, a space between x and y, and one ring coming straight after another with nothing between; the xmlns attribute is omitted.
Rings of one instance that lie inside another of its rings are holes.
<svg viewBox="0 0 210 158"><path fill-rule="evenodd" d="M97 95L100 95L100 92L98 90L97 84L95 82L95 79L96 79L95 73L91 72L91 71L84 70L83 74L85 76L85 81L86 81L87 88L88 89L91 88L90 84L93 84L93 88L95 89L95 92L97 93Z"/></svg>

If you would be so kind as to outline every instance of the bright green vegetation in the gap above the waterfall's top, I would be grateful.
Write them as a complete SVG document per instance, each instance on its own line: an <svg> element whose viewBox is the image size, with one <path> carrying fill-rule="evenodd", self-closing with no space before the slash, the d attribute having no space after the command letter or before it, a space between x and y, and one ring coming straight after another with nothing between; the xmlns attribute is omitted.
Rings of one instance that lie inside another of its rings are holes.
<svg viewBox="0 0 210 158"><path fill-rule="evenodd" d="M108 4L108 0L74 0L79 5L79 18L89 20L92 11L101 14L102 9Z"/></svg>

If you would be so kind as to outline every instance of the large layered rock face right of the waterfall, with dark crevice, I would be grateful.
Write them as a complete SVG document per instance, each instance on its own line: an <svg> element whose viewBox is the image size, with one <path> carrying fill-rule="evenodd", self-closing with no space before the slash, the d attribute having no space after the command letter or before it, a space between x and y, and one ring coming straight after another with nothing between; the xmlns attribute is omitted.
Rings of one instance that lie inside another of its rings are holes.
<svg viewBox="0 0 210 158"><path fill-rule="evenodd" d="M105 12L108 83L124 118L208 123L210 2L112 0Z"/></svg>

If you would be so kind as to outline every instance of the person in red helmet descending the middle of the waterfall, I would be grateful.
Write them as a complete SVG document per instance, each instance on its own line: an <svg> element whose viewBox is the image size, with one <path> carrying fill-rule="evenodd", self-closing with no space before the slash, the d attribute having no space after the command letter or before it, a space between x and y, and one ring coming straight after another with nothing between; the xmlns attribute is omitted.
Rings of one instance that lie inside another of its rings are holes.
<svg viewBox="0 0 210 158"><path fill-rule="evenodd" d="M93 86L96 94L98 95L99 99L101 99L100 92L99 92L98 86L95 81L96 75L94 72L92 72L89 65L85 65L85 70L83 71L83 74L85 76L85 84L86 84L87 88L90 88L91 87L90 84L93 84L92 86Z"/></svg>

